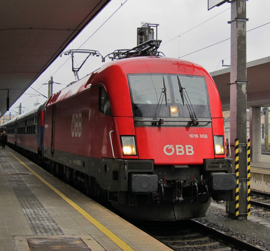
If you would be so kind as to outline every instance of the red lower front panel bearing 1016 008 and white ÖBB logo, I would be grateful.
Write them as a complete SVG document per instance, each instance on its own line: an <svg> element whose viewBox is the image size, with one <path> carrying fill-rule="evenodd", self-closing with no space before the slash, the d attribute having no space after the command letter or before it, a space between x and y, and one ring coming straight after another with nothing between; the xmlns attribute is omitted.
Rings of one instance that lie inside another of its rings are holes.
<svg viewBox="0 0 270 251"><path fill-rule="evenodd" d="M139 158L154 159L155 165L202 165L214 158L211 128L139 127L136 138Z"/></svg>

